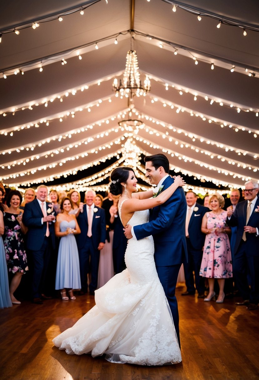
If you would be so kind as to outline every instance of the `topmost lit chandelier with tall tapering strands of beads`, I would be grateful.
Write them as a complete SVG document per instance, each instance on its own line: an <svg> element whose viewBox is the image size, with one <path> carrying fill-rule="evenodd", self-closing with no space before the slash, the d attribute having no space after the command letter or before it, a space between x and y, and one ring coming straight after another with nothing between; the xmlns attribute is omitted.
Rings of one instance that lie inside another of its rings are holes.
<svg viewBox="0 0 259 380"><path fill-rule="evenodd" d="M135 50L129 50L126 57L126 68L123 74L123 79L114 79L112 89L115 91L115 96L122 98L133 99L133 96L145 96L150 91L150 80L146 75L144 82L141 82L139 74L139 64L137 62L137 53Z"/></svg>

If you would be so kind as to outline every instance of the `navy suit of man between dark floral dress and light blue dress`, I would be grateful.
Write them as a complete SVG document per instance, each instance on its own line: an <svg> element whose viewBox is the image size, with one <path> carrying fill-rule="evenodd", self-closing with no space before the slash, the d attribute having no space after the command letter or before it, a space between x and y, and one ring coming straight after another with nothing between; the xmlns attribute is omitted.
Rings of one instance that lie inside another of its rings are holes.
<svg viewBox="0 0 259 380"><path fill-rule="evenodd" d="M49 202L46 202L46 210L49 209L49 204ZM57 215L55 211L54 215ZM49 290L46 274L50 255L55 249L54 222L49 222L49 237L46 237L47 222L41 223L43 217L44 215L37 199L25 204L22 221L28 227L27 248L33 264L33 298L40 298L41 294L48 293L48 291L46 292L46 290Z"/></svg>

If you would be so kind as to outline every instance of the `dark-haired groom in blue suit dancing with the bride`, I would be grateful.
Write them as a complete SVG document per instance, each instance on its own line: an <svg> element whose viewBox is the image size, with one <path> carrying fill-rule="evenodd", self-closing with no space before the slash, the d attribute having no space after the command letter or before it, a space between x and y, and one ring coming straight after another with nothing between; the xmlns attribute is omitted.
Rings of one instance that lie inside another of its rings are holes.
<svg viewBox="0 0 259 380"><path fill-rule="evenodd" d="M169 187L174 179L169 176L169 161L164 154L155 154L145 157L146 174L150 184L157 185L157 196ZM155 244L155 264L160 282L164 288L166 298L172 312L175 331L179 336L179 315L175 287L187 247L185 240L186 198L182 187L178 187L174 194L160 206L150 210L149 222L134 226L126 226L125 236L140 240L153 235Z"/></svg>

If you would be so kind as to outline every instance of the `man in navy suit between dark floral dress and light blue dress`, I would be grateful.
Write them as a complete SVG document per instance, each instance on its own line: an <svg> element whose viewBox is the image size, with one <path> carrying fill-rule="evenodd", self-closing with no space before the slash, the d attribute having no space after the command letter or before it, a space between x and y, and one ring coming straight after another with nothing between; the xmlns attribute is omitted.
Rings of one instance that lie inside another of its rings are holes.
<svg viewBox="0 0 259 380"><path fill-rule="evenodd" d="M55 249L54 222L56 212L52 204L45 201L47 187L40 185L37 188L36 199L26 203L22 220L28 227L27 248L32 258L32 301L42 304L42 299L49 298L45 293L47 289L46 273L49 259Z"/></svg>

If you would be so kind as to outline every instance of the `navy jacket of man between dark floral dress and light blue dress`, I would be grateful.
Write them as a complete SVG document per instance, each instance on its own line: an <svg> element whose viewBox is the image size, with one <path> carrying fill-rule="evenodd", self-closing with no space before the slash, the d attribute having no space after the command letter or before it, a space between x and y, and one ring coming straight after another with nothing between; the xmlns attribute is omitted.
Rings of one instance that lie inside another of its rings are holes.
<svg viewBox="0 0 259 380"><path fill-rule="evenodd" d="M46 202L46 210L49 208L48 205L49 202ZM57 216L54 209L53 211L54 215ZM44 215L37 199L34 199L34 201L25 204L22 221L24 222L25 226L28 227L27 247L31 251L38 251L43 245L47 230L47 223L44 222L41 224L41 218L43 217ZM49 236L51 238L52 247L55 248L54 222L49 223Z"/></svg>

